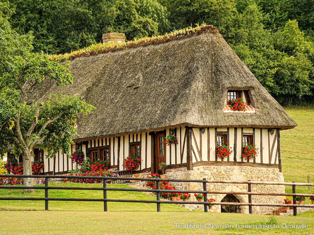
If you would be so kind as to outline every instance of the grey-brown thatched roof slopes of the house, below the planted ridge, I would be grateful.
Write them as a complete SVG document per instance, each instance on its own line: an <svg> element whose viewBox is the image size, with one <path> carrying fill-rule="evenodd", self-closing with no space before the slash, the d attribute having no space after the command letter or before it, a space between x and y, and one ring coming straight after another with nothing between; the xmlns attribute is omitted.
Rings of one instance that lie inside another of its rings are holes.
<svg viewBox="0 0 314 235"><path fill-rule="evenodd" d="M97 109L78 116L75 139L165 127L290 129L297 124L257 81L221 34L204 30L165 43L74 58L74 83L35 96L77 94ZM250 90L255 113L224 113L227 90Z"/></svg>

